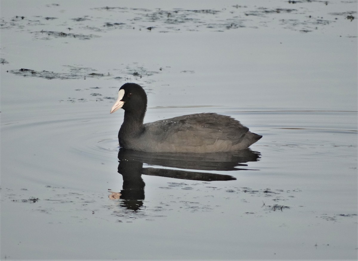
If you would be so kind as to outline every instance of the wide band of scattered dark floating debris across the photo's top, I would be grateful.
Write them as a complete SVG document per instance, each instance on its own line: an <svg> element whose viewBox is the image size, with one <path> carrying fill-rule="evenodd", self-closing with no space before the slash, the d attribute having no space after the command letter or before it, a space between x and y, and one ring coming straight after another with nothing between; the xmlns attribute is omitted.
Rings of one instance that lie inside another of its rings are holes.
<svg viewBox="0 0 358 261"><path fill-rule="evenodd" d="M322 2L325 5L328 5L328 1L320 1L320 0L289 0L287 1L289 4L295 4L295 8L282 8L282 7L273 7L273 6L241 6L241 5L233 5L231 7L223 7L219 10L214 9L197 9L197 10L185 10L180 8L161 10L156 8L154 10L144 9L144 8L129 8L129 7L97 7L92 8L92 10L103 12L103 11L111 11L111 12L130 12L132 11L135 16L129 17L123 21L116 22L107 22L103 20L99 20L98 17L92 16L83 16L69 19L72 22L76 22L74 25L75 28L72 29L83 29L92 30L96 32L104 32L106 30L120 30L120 29L137 29L142 31L141 29L147 29L152 31L152 29L157 32L180 32L180 30L188 30L188 31L199 31L200 29L209 29L212 31L222 32L228 29L239 29L242 27L251 27L258 28L261 25L267 27L275 19L280 19L279 17L282 14L286 14L285 19L282 19L281 26L285 29L290 29L299 32L313 32L313 29L316 29L316 25L320 26L330 25L332 22L337 21L337 17L332 20L326 20L327 22L321 23L316 21L311 15L302 15L308 14L310 11L310 3L311 2ZM251 10L250 10L250 9ZM344 15L345 19L349 21L353 21L355 19L354 14L356 11L347 11L342 13L328 13L328 15ZM289 17L287 18L287 14ZM274 16L276 15L276 16ZM251 19L247 19L246 17L250 16ZM274 17L272 17L274 16ZM61 17L41 17L51 23L52 20L59 20ZM255 17L260 17L261 20L259 26L257 26L257 21L253 20ZM310 19L307 20L307 17ZM322 20L322 18L320 18ZM67 19L68 20L68 19ZM86 22L91 22L91 25L86 25ZM63 21L66 23L67 21ZM97 25L94 23L98 22ZM150 26L156 22L155 27ZM255 24L253 26L253 24ZM25 16L15 16L11 18L11 20L6 21L2 20L0 26L2 29L5 28L13 28L17 27L20 29L24 29L25 26L37 26L44 25L40 20L31 20L29 17ZM183 26L184 25L184 26ZM76 28L77 26L77 28ZM69 30L70 30L69 29ZM28 29L30 33L36 35L36 37L40 37L38 39L50 39L50 37L68 37L68 38L76 38L82 40L92 39L93 37L100 37L98 35L83 35L83 34L72 34L65 33L60 31L31 31ZM43 35L41 37L41 35Z"/></svg>

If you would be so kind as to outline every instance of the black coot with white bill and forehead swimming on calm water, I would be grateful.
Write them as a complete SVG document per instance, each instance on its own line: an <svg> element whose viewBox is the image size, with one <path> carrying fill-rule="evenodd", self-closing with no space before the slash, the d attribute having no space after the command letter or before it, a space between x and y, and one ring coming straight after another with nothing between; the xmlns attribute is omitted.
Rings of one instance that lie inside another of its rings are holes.
<svg viewBox="0 0 358 261"><path fill-rule="evenodd" d="M245 150L261 139L240 121L217 113L189 114L144 122L147 95L132 82L122 85L110 113L124 109L118 132L124 149L145 152L224 152Z"/></svg>

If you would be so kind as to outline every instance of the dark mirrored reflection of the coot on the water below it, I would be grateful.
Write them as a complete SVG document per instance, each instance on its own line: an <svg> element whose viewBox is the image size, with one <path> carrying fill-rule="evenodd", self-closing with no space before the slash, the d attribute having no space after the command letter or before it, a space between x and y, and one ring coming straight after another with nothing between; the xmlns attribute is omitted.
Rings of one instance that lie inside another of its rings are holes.
<svg viewBox="0 0 358 261"><path fill-rule="evenodd" d="M142 175L199 181L236 180L231 175L201 171L249 170L245 162L259 159L260 153L250 149L214 153L153 153L120 148L118 173L123 177L123 187L120 193L111 192L109 198L121 199L122 207L138 210L143 206L145 197Z"/></svg>

